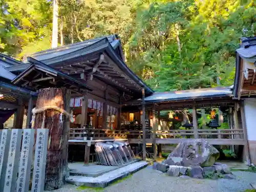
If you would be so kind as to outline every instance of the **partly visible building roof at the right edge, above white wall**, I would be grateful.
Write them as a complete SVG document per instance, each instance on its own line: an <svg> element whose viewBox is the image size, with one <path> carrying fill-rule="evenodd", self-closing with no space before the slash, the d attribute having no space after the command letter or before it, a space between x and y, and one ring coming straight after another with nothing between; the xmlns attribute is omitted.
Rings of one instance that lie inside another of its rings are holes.
<svg viewBox="0 0 256 192"><path fill-rule="evenodd" d="M256 37L242 38L240 48L236 50L236 55L233 96L236 99L255 97Z"/></svg>

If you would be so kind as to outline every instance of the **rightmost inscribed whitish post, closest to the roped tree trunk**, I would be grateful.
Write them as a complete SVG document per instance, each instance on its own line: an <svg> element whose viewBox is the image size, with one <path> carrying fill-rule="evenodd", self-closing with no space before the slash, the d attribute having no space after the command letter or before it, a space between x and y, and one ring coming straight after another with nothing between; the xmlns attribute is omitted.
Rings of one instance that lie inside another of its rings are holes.
<svg viewBox="0 0 256 192"><path fill-rule="evenodd" d="M48 129L37 129L31 192L43 192L45 186Z"/></svg>

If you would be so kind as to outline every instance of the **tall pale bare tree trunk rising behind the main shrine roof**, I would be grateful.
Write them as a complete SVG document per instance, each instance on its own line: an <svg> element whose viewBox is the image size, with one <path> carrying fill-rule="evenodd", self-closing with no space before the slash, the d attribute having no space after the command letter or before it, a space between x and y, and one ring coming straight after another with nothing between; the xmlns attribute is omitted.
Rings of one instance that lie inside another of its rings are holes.
<svg viewBox="0 0 256 192"><path fill-rule="evenodd" d="M58 47L58 0L53 0L52 48Z"/></svg>

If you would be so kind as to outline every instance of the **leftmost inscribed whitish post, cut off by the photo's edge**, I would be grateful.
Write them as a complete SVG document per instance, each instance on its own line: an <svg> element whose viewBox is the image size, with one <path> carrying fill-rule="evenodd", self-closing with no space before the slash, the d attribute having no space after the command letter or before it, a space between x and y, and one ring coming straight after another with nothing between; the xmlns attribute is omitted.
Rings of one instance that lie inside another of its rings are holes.
<svg viewBox="0 0 256 192"><path fill-rule="evenodd" d="M11 130L0 131L0 192L4 191L7 159L10 146Z"/></svg>

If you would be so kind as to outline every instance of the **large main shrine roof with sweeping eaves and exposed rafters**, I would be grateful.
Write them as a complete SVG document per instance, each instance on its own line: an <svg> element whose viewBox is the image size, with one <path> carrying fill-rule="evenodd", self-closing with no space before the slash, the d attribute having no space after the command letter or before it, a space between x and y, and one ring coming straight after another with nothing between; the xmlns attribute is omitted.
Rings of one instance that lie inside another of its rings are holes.
<svg viewBox="0 0 256 192"><path fill-rule="evenodd" d="M121 42L116 35L41 51L31 57L84 84L94 79L104 82L118 91L121 100L141 98L142 88L146 96L154 93L126 66ZM29 65L28 62L7 69L18 74Z"/></svg>

